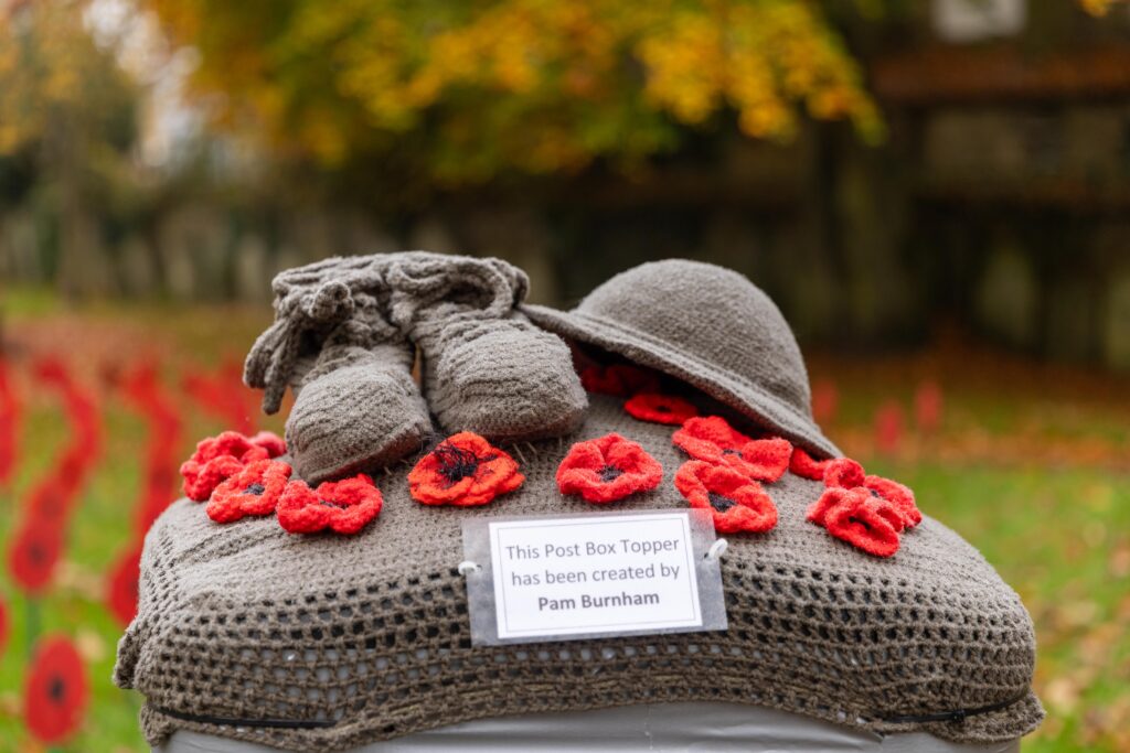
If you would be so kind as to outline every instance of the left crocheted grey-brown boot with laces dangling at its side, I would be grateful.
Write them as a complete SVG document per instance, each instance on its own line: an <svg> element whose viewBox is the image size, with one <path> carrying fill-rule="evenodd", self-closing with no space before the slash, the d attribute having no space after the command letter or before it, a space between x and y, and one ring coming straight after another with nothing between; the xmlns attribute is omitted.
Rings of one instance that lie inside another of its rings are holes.
<svg viewBox="0 0 1130 753"><path fill-rule="evenodd" d="M384 283L372 257L328 260L275 279L276 323L244 369L263 387L263 410L296 394L287 448L311 483L388 465L416 452L431 431L411 377L415 351L389 324Z"/></svg>

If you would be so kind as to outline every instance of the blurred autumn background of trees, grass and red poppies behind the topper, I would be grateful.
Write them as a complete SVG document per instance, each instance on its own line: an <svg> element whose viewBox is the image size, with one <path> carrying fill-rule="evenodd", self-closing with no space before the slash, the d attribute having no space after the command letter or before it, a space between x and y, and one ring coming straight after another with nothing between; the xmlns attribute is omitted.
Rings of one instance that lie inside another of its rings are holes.
<svg viewBox="0 0 1130 753"><path fill-rule="evenodd" d="M749 275L827 434L1032 611L1024 750L1130 750L1128 209L1121 2L0 0L0 751L147 750L136 550L198 439L281 429L271 277L402 248L566 307Z"/></svg>

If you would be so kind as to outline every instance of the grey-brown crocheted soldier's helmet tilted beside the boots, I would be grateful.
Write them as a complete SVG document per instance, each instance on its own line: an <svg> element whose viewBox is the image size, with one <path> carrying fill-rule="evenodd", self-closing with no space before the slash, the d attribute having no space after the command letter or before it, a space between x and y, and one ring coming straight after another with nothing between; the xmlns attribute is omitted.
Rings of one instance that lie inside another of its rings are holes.
<svg viewBox="0 0 1130 753"><path fill-rule="evenodd" d="M768 296L732 270L641 264L571 312L527 305L534 323L683 379L820 456L840 450L812 420L800 348Z"/></svg>

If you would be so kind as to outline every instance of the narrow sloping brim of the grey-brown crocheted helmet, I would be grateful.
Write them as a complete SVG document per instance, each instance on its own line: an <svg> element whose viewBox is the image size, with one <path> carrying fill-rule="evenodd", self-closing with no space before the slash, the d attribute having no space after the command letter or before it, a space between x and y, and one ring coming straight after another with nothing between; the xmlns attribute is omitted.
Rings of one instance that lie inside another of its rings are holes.
<svg viewBox="0 0 1130 753"><path fill-rule="evenodd" d="M533 304L522 305L520 310L534 324L557 335L597 345L634 364L681 379L817 457L843 455L810 417L740 374L703 361L652 335L599 316L582 312L559 312Z"/></svg>

